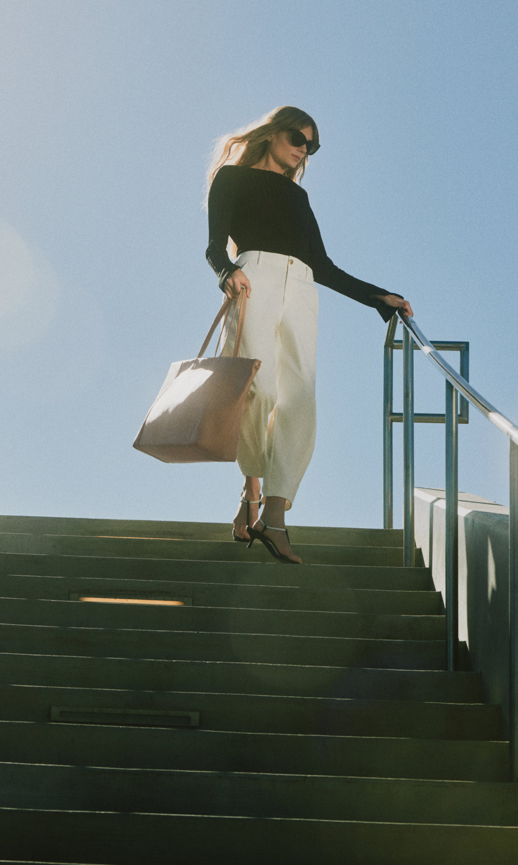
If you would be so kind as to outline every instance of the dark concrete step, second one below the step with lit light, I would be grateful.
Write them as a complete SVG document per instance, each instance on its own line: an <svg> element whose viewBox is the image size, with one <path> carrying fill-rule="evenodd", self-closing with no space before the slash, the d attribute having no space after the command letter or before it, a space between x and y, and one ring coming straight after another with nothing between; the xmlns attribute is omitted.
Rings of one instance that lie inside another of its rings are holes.
<svg viewBox="0 0 518 865"><path fill-rule="evenodd" d="M444 640L285 637L213 631L143 631L0 625L7 652L183 661L295 663L384 670L445 670Z"/></svg>

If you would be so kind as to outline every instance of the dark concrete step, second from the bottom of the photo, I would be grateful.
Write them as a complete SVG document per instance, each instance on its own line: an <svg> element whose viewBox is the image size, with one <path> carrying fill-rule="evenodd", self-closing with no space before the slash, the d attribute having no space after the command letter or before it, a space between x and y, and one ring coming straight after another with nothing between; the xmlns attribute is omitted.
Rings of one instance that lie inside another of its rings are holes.
<svg viewBox="0 0 518 865"><path fill-rule="evenodd" d="M0 807L518 826L512 783L0 764Z"/></svg>

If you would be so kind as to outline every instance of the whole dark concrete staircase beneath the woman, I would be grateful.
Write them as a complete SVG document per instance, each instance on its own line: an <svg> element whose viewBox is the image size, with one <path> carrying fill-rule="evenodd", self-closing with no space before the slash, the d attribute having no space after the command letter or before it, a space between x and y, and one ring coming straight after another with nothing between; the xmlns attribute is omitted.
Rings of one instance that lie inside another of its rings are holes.
<svg viewBox="0 0 518 865"><path fill-rule="evenodd" d="M216 523L0 529L0 862L518 861L500 708L401 532L295 528L291 567Z"/></svg>

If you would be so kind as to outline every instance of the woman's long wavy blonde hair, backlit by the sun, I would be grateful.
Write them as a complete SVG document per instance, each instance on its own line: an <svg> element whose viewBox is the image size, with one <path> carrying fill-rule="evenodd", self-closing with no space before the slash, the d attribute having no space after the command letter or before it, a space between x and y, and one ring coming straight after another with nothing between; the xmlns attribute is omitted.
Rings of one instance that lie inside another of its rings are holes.
<svg viewBox="0 0 518 865"><path fill-rule="evenodd" d="M256 120L255 123L245 126L231 135L223 135L223 138L218 139L210 158L207 194L217 170L222 165L256 165L267 151L270 136L287 129L303 129L305 126L312 127L313 140L318 144L319 131L314 119L305 111L301 111L300 108L281 106L274 108L273 111L265 114L262 119ZM295 169L287 169L284 175L290 180L301 180L307 164L308 154L301 159Z"/></svg>

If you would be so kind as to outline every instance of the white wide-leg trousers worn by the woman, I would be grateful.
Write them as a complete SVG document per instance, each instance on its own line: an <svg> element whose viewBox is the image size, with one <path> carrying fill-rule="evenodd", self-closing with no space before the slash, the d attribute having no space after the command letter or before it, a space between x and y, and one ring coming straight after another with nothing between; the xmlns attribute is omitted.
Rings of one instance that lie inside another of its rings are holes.
<svg viewBox="0 0 518 865"><path fill-rule="evenodd" d="M243 475L262 477L263 497L285 498L288 510L314 450L318 292L311 268L288 255L247 252L236 263L252 288L239 353L261 361L244 408L237 463ZM230 332L225 354L232 353L233 337Z"/></svg>

